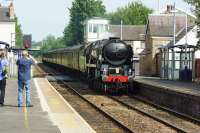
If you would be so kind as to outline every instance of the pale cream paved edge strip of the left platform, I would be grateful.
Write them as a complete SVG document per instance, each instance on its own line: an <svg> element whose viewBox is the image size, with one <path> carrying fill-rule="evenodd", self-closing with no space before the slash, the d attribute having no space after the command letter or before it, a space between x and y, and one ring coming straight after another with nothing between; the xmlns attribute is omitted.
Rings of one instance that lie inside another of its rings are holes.
<svg viewBox="0 0 200 133"><path fill-rule="evenodd" d="M35 78L43 110L62 133L95 133L89 124L64 100L46 78Z"/></svg>

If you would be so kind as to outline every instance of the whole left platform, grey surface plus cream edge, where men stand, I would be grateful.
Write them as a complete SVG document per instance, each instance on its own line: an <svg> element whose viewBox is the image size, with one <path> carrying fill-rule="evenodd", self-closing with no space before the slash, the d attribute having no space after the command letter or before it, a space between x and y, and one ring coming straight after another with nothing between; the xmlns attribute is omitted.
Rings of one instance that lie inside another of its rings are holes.
<svg viewBox="0 0 200 133"><path fill-rule="evenodd" d="M0 133L95 132L45 78L31 81L31 101L33 107L17 107L17 80L7 80Z"/></svg>

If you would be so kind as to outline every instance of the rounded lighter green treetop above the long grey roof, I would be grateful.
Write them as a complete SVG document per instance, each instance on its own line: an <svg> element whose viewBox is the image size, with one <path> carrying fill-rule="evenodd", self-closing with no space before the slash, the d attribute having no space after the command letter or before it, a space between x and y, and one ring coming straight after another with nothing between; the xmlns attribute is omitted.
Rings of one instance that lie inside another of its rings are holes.
<svg viewBox="0 0 200 133"><path fill-rule="evenodd" d="M111 24L125 25L144 25L146 24L148 14L153 10L144 6L141 2L131 2L127 6L118 8L116 12L107 14Z"/></svg>

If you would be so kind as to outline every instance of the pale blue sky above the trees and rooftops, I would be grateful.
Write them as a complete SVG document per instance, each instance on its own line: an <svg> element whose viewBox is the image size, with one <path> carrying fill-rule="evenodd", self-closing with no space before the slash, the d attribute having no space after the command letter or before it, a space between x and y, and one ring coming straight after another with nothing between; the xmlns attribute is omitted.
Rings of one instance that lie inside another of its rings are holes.
<svg viewBox="0 0 200 133"><path fill-rule="evenodd" d="M15 13L22 25L24 34L32 34L34 41L41 41L47 35L56 37L63 35L64 27L69 22L69 11L73 0L13 0ZM108 12L116 11L118 7L125 6L136 0L102 0ZM10 1L0 0L2 5ZM141 0L141 2L154 10L163 9L167 4L176 3L183 10L190 7L183 0ZM158 4L159 3L159 4ZM159 5L159 6L158 6Z"/></svg>

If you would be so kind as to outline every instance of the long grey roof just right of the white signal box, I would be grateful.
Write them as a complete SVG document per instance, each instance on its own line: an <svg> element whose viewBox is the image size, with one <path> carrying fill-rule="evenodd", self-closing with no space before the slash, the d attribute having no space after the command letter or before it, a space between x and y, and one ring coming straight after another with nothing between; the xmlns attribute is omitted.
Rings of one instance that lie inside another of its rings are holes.
<svg viewBox="0 0 200 133"><path fill-rule="evenodd" d="M122 37L125 41L144 41L145 25L123 25ZM109 32L115 37L121 36L121 25L110 25Z"/></svg>

